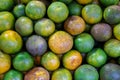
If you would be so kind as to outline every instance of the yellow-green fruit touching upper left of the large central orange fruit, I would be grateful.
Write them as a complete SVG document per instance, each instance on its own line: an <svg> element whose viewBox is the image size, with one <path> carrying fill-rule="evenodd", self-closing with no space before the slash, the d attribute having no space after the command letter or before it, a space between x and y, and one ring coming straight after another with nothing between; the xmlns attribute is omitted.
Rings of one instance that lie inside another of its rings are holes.
<svg viewBox="0 0 120 80"><path fill-rule="evenodd" d="M35 32L41 36L50 36L55 31L55 24L52 20L43 18L35 23Z"/></svg>

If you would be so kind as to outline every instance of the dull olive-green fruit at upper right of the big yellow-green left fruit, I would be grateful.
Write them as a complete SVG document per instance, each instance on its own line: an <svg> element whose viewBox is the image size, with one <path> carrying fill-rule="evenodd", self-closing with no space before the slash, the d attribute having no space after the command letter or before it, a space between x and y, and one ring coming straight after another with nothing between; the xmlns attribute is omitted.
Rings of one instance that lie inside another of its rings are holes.
<svg viewBox="0 0 120 80"><path fill-rule="evenodd" d="M20 17L15 22L15 30L21 36L29 36L33 32L33 22L28 17Z"/></svg>

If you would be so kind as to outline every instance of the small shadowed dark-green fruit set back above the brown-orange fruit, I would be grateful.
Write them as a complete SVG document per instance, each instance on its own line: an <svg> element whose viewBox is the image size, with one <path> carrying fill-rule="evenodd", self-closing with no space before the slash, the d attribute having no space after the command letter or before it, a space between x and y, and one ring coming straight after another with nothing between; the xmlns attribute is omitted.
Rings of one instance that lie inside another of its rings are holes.
<svg viewBox="0 0 120 80"><path fill-rule="evenodd" d="M78 4L77 2L73 1L68 4L69 15L81 15L82 5Z"/></svg>

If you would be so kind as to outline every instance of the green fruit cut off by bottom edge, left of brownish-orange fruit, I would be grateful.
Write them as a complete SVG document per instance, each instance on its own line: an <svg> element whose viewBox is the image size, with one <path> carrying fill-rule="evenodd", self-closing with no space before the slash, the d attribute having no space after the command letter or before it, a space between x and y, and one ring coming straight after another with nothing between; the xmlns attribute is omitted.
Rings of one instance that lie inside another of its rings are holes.
<svg viewBox="0 0 120 80"><path fill-rule="evenodd" d="M23 80L23 74L16 70L9 70L4 75L4 80Z"/></svg>

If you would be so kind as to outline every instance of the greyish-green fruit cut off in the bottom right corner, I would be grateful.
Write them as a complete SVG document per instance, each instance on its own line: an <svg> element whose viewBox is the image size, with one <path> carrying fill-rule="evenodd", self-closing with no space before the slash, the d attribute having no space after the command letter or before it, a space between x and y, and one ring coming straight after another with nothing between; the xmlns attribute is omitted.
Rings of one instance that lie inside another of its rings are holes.
<svg viewBox="0 0 120 80"><path fill-rule="evenodd" d="M101 80L119 80L120 79L120 65L114 63L107 63L100 69Z"/></svg>

